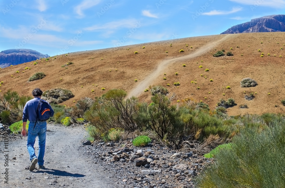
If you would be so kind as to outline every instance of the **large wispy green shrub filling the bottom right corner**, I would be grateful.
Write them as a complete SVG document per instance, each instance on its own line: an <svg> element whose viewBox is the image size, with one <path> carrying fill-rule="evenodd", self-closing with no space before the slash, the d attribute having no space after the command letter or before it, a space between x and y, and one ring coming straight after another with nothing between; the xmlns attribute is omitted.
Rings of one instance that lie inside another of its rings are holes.
<svg viewBox="0 0 285 188"><path fill-rule="evenodd" d="M245 122L231 149L220 150L215 163L198 176L197 187L285 187L284 123Z"/></svg>

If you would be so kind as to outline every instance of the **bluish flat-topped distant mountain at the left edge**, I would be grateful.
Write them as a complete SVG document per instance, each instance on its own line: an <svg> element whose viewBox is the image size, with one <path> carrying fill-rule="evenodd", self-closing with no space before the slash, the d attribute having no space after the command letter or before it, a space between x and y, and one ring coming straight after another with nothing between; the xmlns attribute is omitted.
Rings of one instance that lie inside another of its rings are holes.
<svg viewBox="0 0 285 188"><path fill-rule="evenodd" d="M17 65L47 57L49 55L31 49L4 50L0 52L0 67L5 68L10 65Z"/></svg>

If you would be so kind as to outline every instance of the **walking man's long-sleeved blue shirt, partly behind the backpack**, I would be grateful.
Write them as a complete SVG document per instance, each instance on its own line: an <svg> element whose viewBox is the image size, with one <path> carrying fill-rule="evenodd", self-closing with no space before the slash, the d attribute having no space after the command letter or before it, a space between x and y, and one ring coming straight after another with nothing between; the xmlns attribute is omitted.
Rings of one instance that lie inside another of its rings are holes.
<svg viewBox="0 0 285 188"><path fill-rule="evenodd" d="M38 107L38 101L40 98L35 97L34 99L29 100L23 110L23 122L27 122L29 120L30 122L36 121L36 110ZM50 106L50 104L48 104ZM54 115L54 110L50 106L50 116L52 117Z"/></svg>

